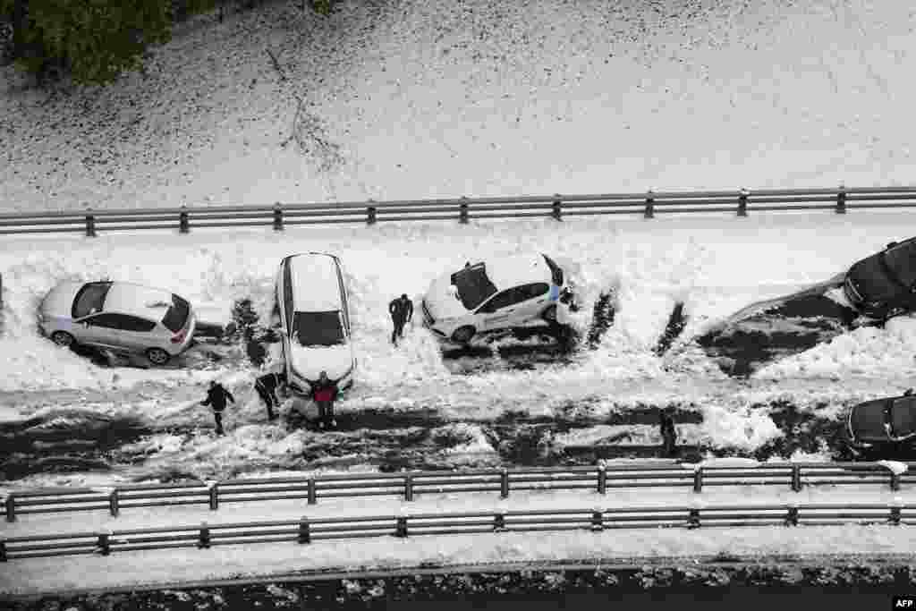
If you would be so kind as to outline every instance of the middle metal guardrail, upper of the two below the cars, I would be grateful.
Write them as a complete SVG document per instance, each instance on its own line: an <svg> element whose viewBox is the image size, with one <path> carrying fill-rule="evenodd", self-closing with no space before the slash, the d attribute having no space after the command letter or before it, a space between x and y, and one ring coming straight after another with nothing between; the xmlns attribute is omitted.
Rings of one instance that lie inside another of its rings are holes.
<svg viewBox="0 0 916 611"><path fill-rule="evenodd" d="M909 467L916 464L908 464ZM689 468L688 468L689 467ZM609 488L708 486L877 485L899 490L916 484L916 473L895 474L878 463L759 464L752 467L697 467L691 464L587 465L524 469L462 469L400 474L319 475L315 477L251 478L187 484L135 484L111 488L50 488L9 493L3 502L8 522L25 514L107 510L117 517L132 507L251 503L319 498L400 496L498 492L513 490L588 490L605 495Z"/></svg>

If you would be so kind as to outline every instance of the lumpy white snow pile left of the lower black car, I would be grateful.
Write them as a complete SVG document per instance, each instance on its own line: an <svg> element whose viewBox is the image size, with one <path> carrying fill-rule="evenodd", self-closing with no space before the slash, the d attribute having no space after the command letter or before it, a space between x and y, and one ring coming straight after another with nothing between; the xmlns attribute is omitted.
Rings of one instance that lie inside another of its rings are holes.
<svg viewBox="0 0 916 611"><path fill-rule="evenodd" d="M782 436L779 427L759 409L725 409L710 404L701 411L703 441L715 448L752 451Z"/></svg>

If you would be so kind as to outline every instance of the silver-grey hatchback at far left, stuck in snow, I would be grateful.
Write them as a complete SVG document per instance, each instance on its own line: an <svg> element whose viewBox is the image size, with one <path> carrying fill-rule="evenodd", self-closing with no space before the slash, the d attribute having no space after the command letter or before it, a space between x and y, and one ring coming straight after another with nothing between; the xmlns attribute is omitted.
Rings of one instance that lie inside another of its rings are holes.
<svg viewBox="0 0 916 611"><path fill-rule="evenodd" d="M82 344L146 355L165 365L190 345L188 300L131 282L60 282L38 306L38 329L55 344Z"/></svg>

